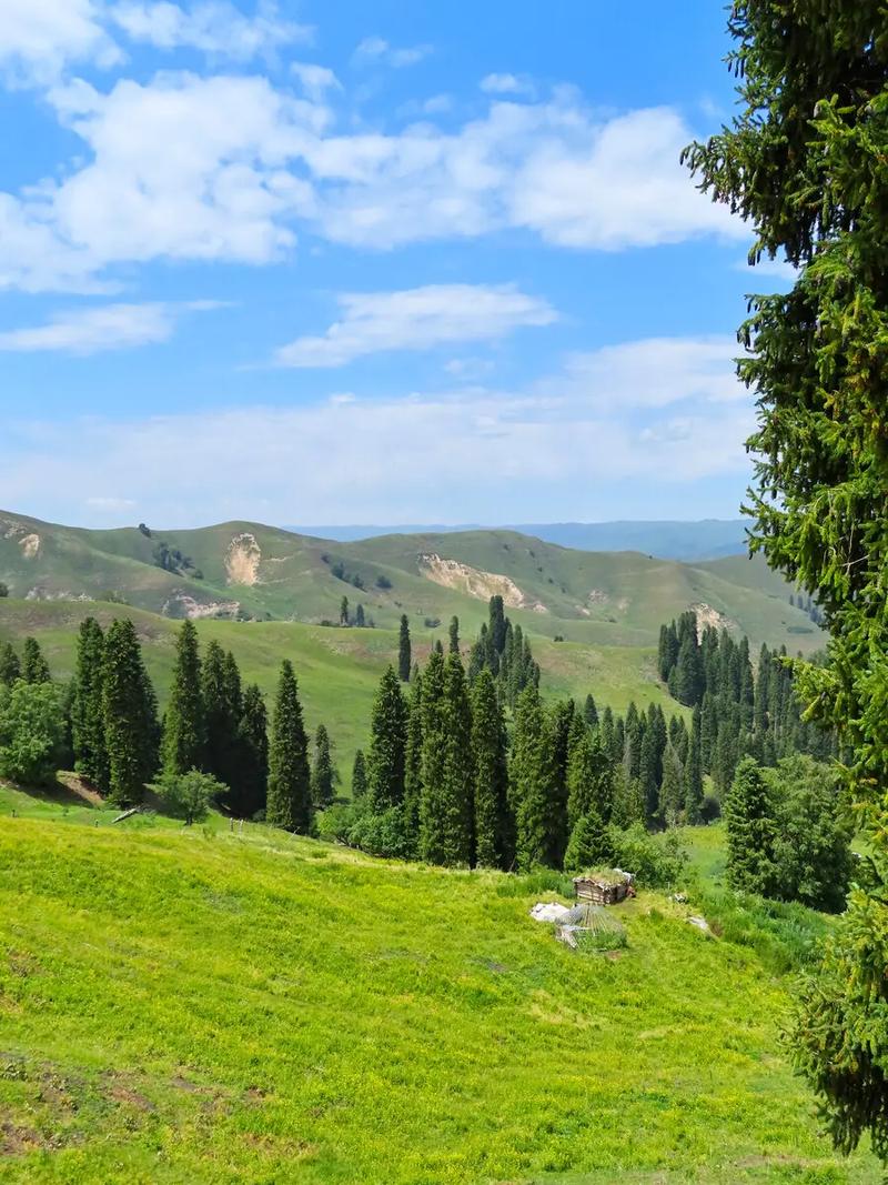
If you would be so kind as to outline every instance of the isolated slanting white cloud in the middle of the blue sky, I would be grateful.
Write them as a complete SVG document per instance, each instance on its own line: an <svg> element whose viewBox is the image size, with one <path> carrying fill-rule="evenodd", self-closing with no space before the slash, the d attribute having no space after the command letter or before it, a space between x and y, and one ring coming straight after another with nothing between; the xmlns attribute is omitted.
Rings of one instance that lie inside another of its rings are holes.
<svg viewBox="0 0 888 1185"><path fill-rule="evenodd" d="M282 346L282 366L343 366L392 350L427 350L453 341L501 338L520 326L551 325L558 314L511 286L427 284L403 292L347 293L341 320L323 337Z"/></svg>

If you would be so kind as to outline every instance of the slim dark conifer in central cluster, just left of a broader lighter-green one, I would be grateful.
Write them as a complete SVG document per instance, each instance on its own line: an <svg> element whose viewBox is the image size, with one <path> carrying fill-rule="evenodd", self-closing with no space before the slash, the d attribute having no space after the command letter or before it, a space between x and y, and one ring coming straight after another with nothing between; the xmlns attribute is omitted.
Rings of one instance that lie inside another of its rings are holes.
<svg viewBox="0 0 888 1185"><path fill-rule="evenodd" d="M506 722L490 671L471 691L471 751L475 762L475 858L484 867L508 867L508 767Z"/></svg>

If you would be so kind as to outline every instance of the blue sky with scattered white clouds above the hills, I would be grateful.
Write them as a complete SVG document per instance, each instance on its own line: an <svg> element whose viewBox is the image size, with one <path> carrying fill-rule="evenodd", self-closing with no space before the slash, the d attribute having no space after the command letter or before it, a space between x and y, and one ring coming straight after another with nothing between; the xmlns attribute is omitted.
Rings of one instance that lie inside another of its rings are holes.
<svg viewBox="0 0 888 1185"><path fill-rule="evenodd" d="M0 0L0 506L733 517L725 13Z"/></svg>

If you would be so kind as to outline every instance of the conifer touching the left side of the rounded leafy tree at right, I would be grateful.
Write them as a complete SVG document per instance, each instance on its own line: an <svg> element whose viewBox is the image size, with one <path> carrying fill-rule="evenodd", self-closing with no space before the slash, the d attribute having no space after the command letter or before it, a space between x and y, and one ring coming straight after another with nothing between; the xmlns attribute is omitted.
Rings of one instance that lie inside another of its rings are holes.
<svg viewBox="0 0 888 1185"><path fill-rule="evenodd" d="M725 795L726 873L734 889L767 893L773 883L774 819L761 768L744 757Z"/></svg>

